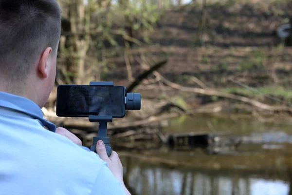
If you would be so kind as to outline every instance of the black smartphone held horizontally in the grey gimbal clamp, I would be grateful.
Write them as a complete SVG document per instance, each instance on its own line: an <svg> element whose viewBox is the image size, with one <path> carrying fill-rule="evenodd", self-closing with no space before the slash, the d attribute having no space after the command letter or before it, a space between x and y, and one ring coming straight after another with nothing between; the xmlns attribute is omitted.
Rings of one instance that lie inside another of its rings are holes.
<svg viewBox="0 0 292 195"><path fill-rule="evenodd" d="M125 86L58 85L58 117L125 117Z"/></svg>

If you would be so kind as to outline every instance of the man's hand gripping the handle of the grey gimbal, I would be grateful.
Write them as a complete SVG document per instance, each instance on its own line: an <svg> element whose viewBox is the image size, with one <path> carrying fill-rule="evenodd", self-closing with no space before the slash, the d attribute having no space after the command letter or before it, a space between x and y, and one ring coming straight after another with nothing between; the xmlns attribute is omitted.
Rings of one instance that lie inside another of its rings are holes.
<svg viewBox="0 0 292 195"><path fill-rule="evenodd" d="M102 140L99 140L96 144L96 153L98 154L98 156L102 160L104 160L108 163L108 167L109 167L110 171L113 173L113 175L121 183L126 195L131 195L124 184L123 165L122 165L122 162L121 162L118 154L114 151L111 151L111 155L109 157L107 155L106 146Z"/></svg>

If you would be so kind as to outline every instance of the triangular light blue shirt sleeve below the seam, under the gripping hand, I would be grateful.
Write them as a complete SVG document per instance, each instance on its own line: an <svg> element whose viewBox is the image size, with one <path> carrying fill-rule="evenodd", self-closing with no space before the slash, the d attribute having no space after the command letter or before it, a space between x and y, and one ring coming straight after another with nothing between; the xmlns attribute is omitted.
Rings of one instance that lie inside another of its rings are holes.
<svg viewBox="0 0 292 195"><path fill-rule="evenodd" d="M93 184L91 195L126 195L107 165L103 165Z"/></svg>

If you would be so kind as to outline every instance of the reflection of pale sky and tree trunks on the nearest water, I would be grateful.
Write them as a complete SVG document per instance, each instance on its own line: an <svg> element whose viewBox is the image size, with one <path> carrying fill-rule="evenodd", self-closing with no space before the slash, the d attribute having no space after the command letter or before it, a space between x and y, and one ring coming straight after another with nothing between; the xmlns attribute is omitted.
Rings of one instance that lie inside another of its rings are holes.
<svg viewBox="0 0 292 195"><path fill-rule="evenodd" d="M244 171L180 170L122 159L128 185L137 195L290 195L290 182Z"/></svg>

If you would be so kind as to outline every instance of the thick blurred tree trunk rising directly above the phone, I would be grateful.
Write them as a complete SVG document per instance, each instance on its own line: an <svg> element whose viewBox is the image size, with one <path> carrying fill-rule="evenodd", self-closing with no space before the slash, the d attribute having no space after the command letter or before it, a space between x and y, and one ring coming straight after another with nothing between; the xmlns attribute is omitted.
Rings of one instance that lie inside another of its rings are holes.
<svg viewBox="0 0 292 195"><path fill-rule="evenodd" d="M60 3L62 4L62 3ZM92 0L88 0L87 6L84 0L74 0L62 7L62 30L66 27L65 36L61 36L60 50L62 54L68 50L63 63L62 75L67 84L83 84L85 81L85 59L90 44L90 6ZM67 21L67 24L63 21ZM66 26L64 26L66 24ZM63 27L64 26L64 27ZM69 31L69 33L68 33ZM69 55L70 54L70 55Z"/></svg>

